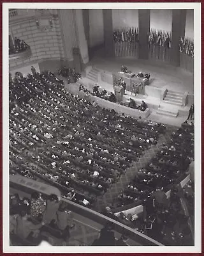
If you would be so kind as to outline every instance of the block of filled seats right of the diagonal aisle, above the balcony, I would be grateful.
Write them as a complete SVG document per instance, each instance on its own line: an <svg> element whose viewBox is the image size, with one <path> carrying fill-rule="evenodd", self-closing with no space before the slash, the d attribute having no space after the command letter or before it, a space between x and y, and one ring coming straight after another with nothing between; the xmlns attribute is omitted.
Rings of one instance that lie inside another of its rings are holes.
<svg viewBox="0 0 204 256"><path fill-rule="evenodd" d="M119 195L117 207L141 200L143 194L149 195L157 187L165 188L177 183L191 161L194 160L194 126L178 128L171 140L163 143L161 150L150 163L138 170L135 179Z"/></svg>

